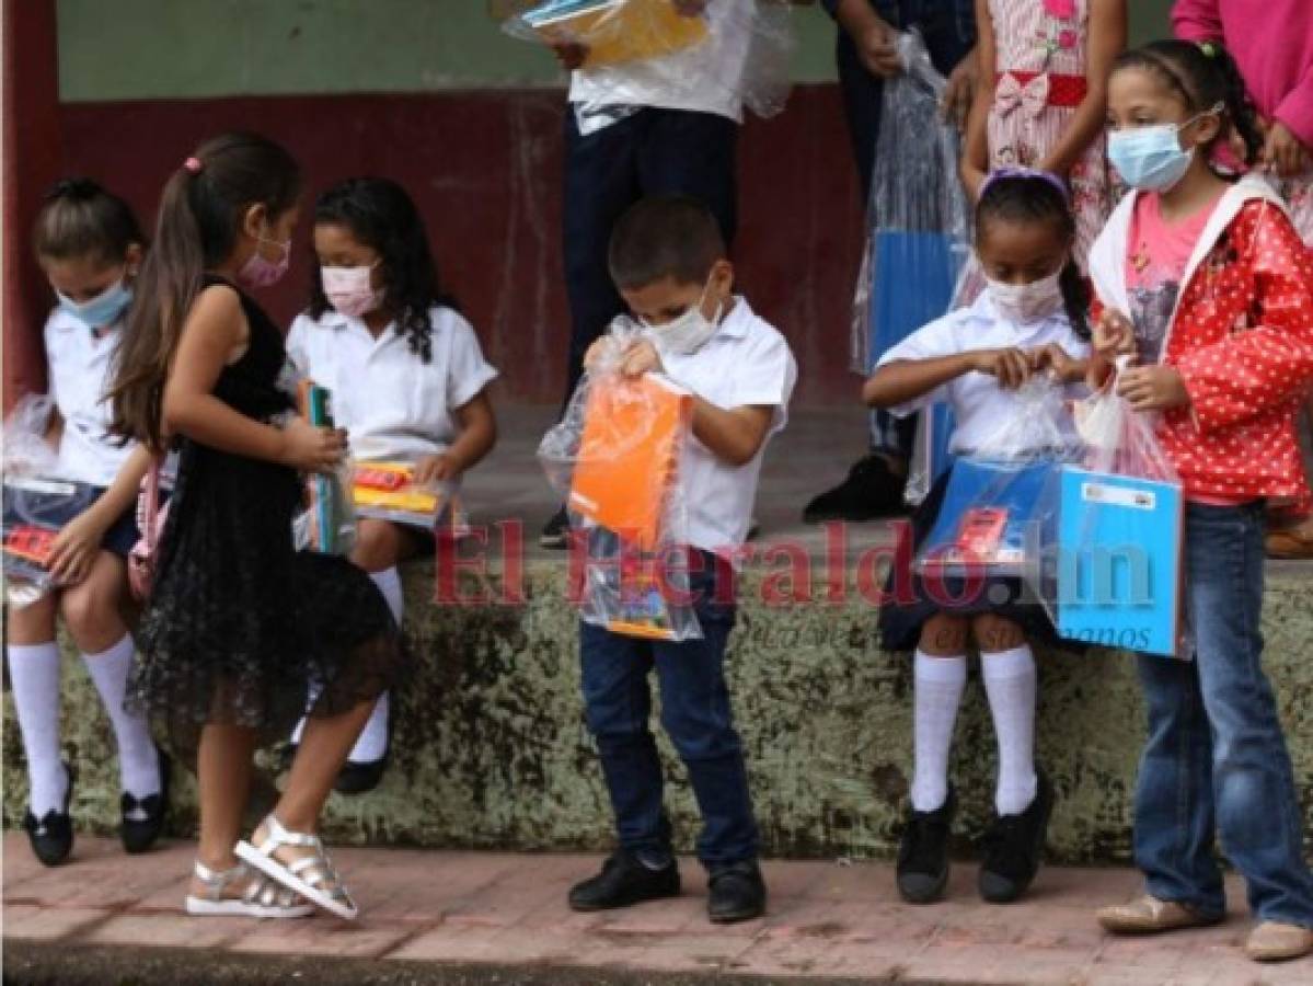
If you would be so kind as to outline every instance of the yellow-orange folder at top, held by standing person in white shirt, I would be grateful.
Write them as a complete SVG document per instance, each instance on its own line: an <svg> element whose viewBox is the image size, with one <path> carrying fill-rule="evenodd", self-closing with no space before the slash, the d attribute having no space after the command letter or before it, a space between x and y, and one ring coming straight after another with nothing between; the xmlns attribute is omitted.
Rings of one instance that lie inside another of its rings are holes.
<svg viewBox="0 0 1313 986"><path fill-rule="evenodd" d="M706 37L706 21L672 0L548 0L523 17L549 45L586 45L586 66L659 58Z"/></svg>

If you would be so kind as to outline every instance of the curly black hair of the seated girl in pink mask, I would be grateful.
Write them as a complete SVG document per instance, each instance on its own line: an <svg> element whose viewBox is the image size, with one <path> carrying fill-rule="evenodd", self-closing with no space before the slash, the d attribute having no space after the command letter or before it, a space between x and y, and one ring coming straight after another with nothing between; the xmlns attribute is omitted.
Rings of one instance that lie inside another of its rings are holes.
<svg viewBox="0 0 1313 986"><path fill-rule="evenodd" d="M458 310L442 290L428 232L406 189L390 179L348 179L315 202L315 225L343 226L382 261L383 305L397 318L398 332L424 362L433 358L433 306ZM310 280L310 315L332 309L314 263Z"/></svg>

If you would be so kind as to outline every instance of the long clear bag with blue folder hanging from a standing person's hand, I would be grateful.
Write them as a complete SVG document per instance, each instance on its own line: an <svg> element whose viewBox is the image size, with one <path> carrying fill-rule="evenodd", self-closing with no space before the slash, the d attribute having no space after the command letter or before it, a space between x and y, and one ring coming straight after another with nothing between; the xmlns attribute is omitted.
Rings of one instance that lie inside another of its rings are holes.
<svg viewBox="0 0 1313 986"><path fill-rule="evenodd" d="M939 109L947 80L915 30L899 35L898 54L905 71L884 84L869 235L853 293L855 373L869 373L886 349L949 310L970 251L957 127Z"/></svg>

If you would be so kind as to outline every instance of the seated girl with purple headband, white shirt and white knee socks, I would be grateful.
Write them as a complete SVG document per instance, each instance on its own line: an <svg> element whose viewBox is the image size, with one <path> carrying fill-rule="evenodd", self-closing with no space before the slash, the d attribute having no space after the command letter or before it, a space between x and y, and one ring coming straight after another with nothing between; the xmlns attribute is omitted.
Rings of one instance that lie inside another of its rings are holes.
<svg viewBox="0 0 1313 986"><path fill-rule="evenodd" d="M863 394L869 406L899 415L947 399L957 418L956 453L982 446L1025 414L1012 391L1031 374L1043 370L1083 387L1088 354L1087 291L1071 260L1075 225L1066 186L1046 172L1016 168L995 172L982 189L976 249L989 290L885 353ZM913 520L918 546L935 524L947 484L945 474ZM1036 668L1027 641L1056 634L1044 608L1020 599L1019 579L943 583L928 591L916 576L914 599L892 599L880 614L886 649L916 649L915 771L898 889L910 903L928 903L948 880L956 809L948 756L974 638L999 748L997 817L978 882L986 901L1004 903L1035 878L1052 809L1052 789L1035 769Z"/></svg>

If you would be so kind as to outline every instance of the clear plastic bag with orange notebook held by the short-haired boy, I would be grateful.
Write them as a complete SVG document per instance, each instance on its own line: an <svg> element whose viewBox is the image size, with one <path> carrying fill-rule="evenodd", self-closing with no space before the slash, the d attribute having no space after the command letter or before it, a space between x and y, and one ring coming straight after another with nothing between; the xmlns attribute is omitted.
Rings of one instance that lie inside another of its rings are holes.
<svg viewBox="0 0 1313 986"><path fill-rule="evenodd" d="M582 617L629 637L695 639L681 487L693 400L660 374L620 374L624 348L642 335L616 319L538 460L566 499Z"/></svg>

